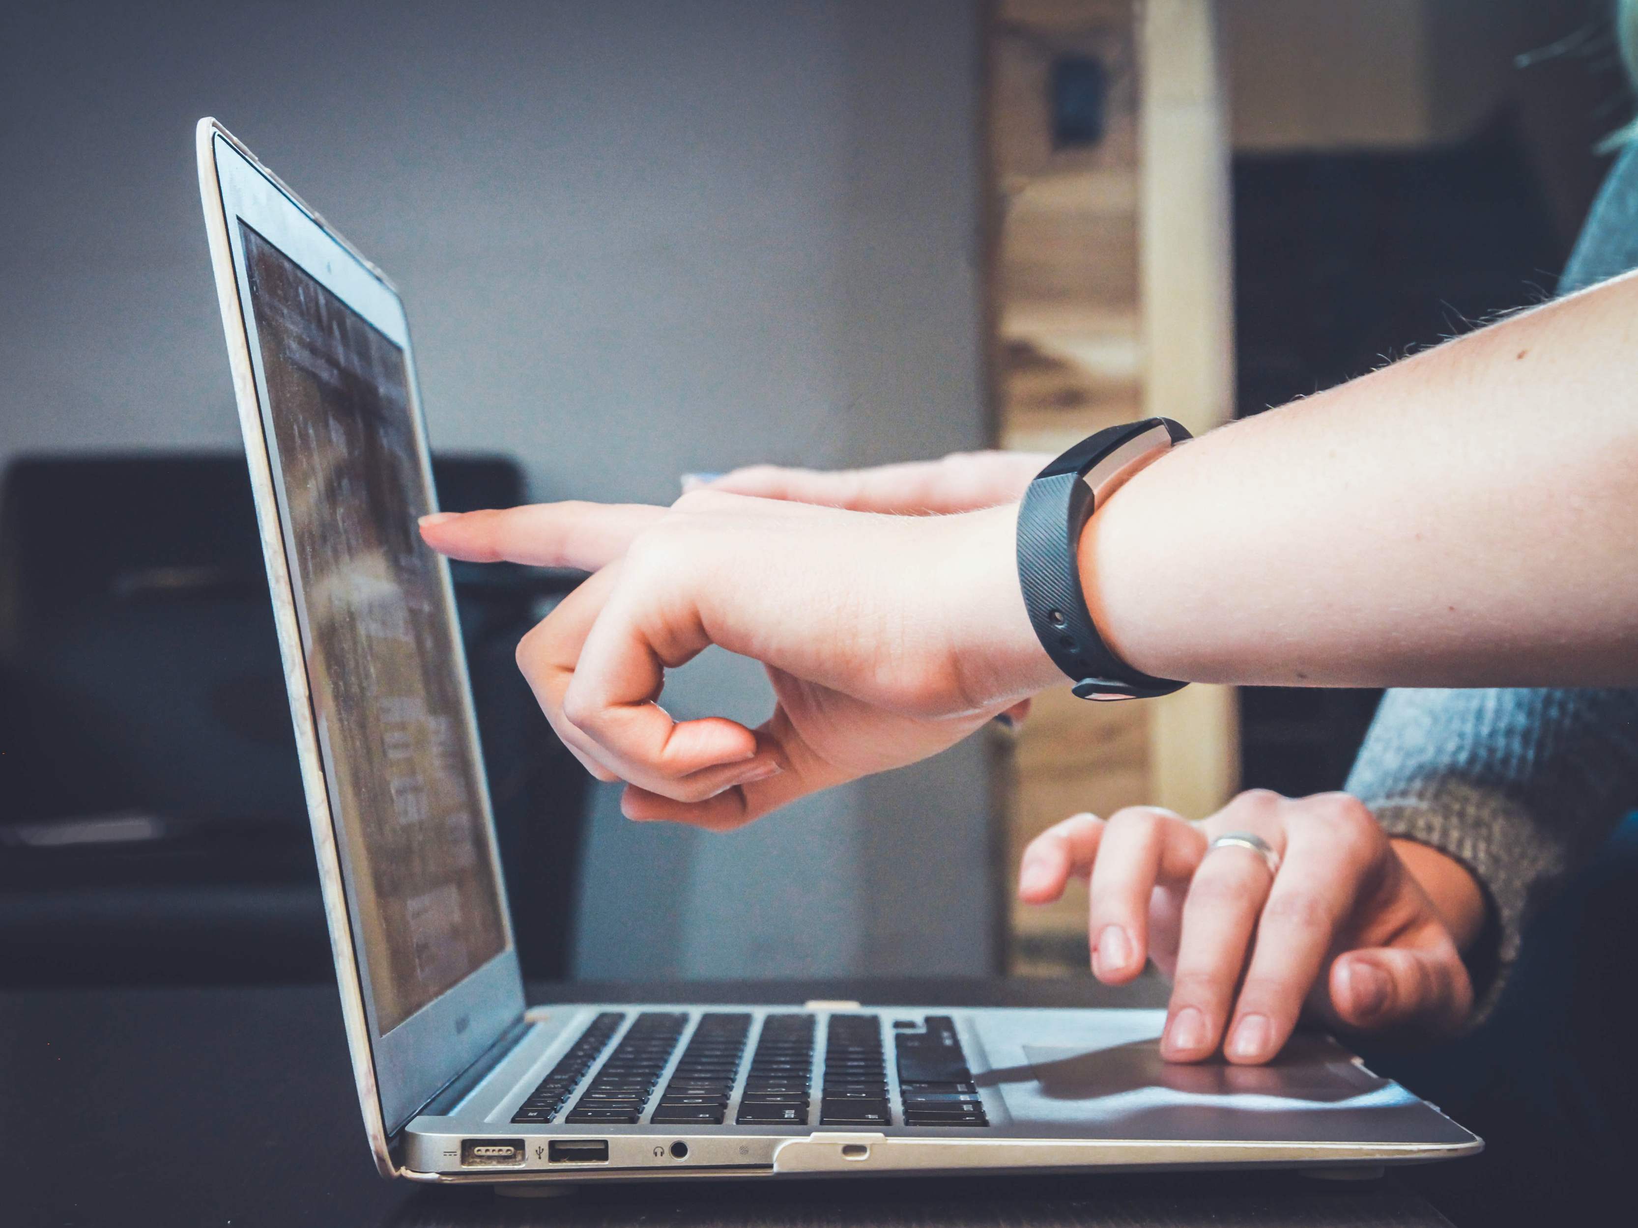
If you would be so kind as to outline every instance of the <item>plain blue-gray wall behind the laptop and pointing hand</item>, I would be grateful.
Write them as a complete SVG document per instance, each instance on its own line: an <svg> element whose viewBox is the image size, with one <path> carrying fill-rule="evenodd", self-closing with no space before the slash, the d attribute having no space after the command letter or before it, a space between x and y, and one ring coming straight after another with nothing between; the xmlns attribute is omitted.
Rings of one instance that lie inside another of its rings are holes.
<svg viewBox="0 0 1638 1228"><path fill-rule="evenodd" d="M13 5L0 460L238 445L200 115L400 283L434 447L518 455L537 498L978 445L978 8ZM768 706L721 653L668 698ZM580 973L980 971L984 822L976 747L732 837L603 789Z"/></svg>

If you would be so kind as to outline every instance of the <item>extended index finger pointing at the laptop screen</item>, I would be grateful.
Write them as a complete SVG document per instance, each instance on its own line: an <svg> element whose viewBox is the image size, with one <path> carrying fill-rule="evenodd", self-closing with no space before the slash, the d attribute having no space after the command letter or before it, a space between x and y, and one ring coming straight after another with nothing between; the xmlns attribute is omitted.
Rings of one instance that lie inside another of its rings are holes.
<svg viewBox="0 0 1638 1228"><path fill-rule="evenodd" d="M470 563L529 563L601 571L632 539L665 516L644 503L532 503L421 517L421 537Z"/></svg>

